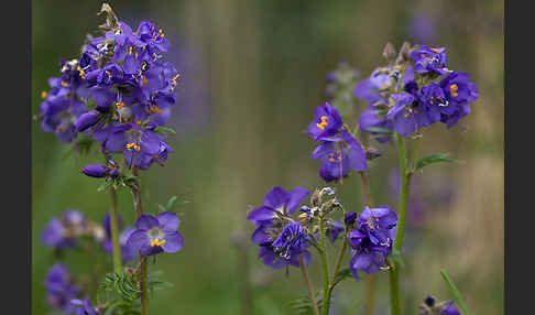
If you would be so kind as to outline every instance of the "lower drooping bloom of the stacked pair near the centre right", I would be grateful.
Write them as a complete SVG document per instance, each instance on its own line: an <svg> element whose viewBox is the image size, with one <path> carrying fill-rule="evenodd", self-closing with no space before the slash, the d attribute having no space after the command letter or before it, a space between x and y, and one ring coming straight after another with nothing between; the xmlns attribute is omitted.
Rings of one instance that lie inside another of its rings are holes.
<svg viewBox="0 0 535 315"><path fill-rule="evenodd" d="M343 130L340 137L324 138L312 158L324 162L319 175L327 183L346 177L350 169L357 172L368 169L364 149Z"/></svg>

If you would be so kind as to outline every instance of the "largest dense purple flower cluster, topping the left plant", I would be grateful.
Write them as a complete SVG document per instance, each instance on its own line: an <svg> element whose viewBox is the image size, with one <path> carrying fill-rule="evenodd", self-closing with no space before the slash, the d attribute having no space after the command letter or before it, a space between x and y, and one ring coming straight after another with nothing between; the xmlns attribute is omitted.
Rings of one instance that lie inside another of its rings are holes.
<svg viewBox="0 0 535 315"><path fill-rule="evenodd" d="M133 32L118 21L107 30L87 41L79 59L62 62L62 76L48 80L42 129L65 142L84 132L100 143L105 156L122 153L128 167L146 170L173 152L161 128L175 104L178 73L163 59L170 43L153 23L143 21ZM106 174L102 166L86 171Z"/></svg>

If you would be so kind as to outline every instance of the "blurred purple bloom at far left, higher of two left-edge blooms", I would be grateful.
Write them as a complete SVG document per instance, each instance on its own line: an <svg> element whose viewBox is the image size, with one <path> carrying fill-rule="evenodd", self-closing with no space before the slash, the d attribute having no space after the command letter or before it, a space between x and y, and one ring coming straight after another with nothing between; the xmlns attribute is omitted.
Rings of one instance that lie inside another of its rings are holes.
<svg viewBox="0 0 535 315"><path fill-rule="evenodd" d="M61 218L53 218L41 233L45 246L56 249L76 247L77 238L86 232L87 221L77 210L67 210Z"/></svg>

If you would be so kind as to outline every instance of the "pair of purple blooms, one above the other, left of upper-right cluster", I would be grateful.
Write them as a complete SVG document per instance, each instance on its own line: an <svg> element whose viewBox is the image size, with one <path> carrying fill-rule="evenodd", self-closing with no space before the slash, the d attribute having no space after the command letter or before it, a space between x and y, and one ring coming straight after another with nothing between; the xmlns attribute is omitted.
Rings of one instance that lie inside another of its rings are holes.
<svg viewBox="0 0 535 315"><path fill-rule="evenodd" d="M307 132L319 142L312 156L323 161L319 175L327 183L346 177L350 169L358 172L367 170L364 149L347 131L338 110L328 102L316 108Z"/></svg>

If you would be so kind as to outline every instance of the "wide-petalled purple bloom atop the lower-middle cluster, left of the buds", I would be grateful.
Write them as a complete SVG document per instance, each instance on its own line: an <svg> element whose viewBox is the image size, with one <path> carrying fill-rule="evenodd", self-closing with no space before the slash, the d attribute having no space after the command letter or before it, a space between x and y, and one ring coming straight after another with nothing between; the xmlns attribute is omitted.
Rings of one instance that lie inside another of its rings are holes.
<svg viewBox="0 0 535 315"><path fill-rule="evenodd" d="M308 194L309 192L303 187L290 192L282 187L273 187L265 194L264 205L249 213L248 219L258 226L269 226L277 216L292 215Z"/></svg>

